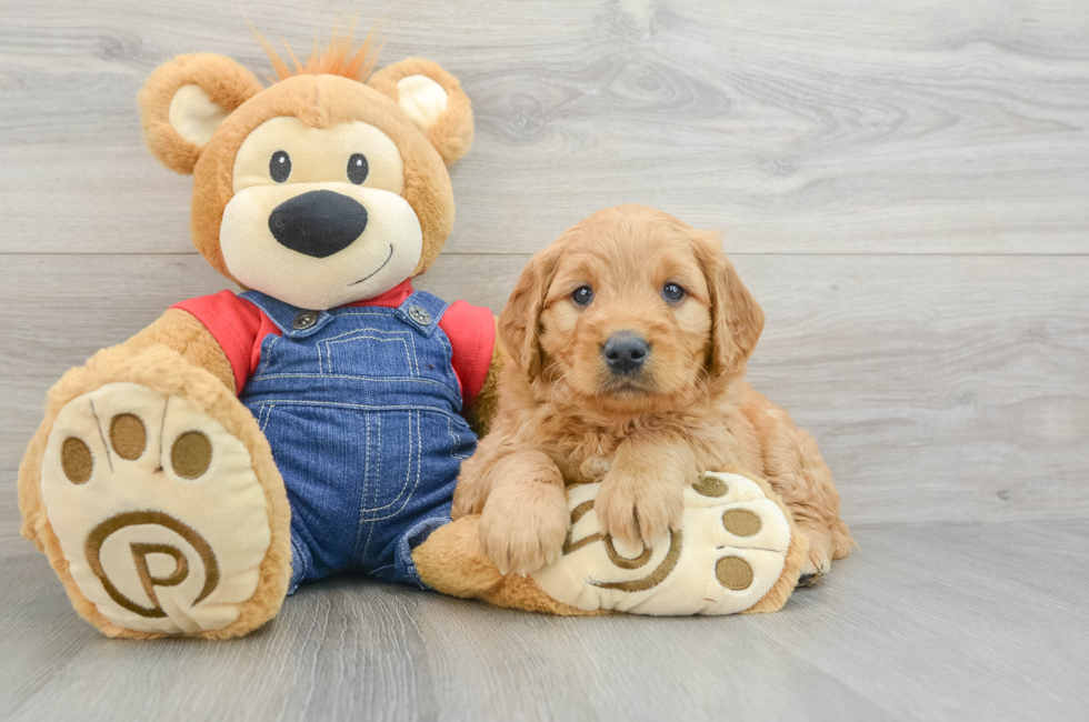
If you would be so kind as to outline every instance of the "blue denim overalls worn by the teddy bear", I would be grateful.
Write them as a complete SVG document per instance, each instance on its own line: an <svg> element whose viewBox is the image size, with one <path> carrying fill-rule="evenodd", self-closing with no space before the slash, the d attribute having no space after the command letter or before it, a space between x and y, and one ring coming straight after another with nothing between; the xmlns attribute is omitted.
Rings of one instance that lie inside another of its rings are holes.
<svg viewBox="0 0 1089 722"><path fill-rule="evenodd" d="M420 586L412 549L450 521L477 437L461 418L446 302L306 311L257 291L283 332L239 399L272 447L291 503L291 591L358 569Z"/></svg>

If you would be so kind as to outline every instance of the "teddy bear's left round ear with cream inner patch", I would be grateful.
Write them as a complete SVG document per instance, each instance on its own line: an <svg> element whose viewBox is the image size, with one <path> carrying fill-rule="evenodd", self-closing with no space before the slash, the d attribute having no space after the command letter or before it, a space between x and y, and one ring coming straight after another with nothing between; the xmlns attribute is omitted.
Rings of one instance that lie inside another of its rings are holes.
<svg viewBox="0 0 1089 722"><path fill-rule="evenodd" d="M178 56L164 62L138 96L151 154L172 171L193 172L216 128L261 89L253 73L224 56Z"/></svg>

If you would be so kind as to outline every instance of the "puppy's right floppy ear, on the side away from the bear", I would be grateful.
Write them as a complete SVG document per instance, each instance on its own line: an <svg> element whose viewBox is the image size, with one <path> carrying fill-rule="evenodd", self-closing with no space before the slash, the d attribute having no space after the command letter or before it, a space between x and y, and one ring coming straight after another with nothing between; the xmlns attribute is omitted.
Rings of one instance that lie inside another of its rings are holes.
<svg viewBox="0 0 1089 722"><path fill-rule="evenodd" d="M763 309L726 258L718 233L692 231L691 241L711 297L711 374L733 375L757 348Z"/></svg>

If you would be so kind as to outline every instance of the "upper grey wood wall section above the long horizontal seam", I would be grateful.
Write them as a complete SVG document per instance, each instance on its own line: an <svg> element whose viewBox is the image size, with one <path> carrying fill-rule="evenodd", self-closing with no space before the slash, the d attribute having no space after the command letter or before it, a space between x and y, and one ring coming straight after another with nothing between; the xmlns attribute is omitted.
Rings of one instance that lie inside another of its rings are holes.
<svg viewBox="0 0 1089 722"><path fill-rule="evenodd" d="M243 14L304 49L354 9L4 2L4 247L188 251L189 181L140 139L144 78L194 51L266 72ZM383 19L386 61L433 58L473 100L452 252L531 251L620 202L728 228L745 251L1087 251L1081 0L374 0L366 13Z"/></svg>

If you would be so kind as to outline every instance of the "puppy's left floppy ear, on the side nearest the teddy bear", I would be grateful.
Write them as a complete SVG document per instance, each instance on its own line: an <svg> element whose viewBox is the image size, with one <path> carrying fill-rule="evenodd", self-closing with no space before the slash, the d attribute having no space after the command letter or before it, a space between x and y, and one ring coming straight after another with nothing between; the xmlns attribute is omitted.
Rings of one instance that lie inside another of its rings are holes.
<svg viewBox="0 0 1089 722"><path fill-rule="evenodd" d="M558 260L552 248L531 258L499 314L499 335L511 361L530 378L541 372L540 317Z"/></svg>

